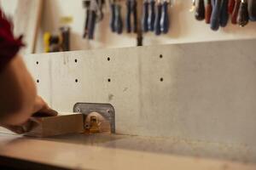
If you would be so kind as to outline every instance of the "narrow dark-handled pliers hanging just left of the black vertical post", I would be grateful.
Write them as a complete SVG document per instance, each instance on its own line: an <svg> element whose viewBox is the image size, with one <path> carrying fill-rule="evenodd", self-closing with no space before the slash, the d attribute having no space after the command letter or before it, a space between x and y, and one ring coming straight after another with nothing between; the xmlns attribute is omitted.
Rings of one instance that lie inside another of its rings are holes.
<svg viewBox="0 0 256 170"><path fill-rule="evenodd" d="M127 14L126 14L126 30L131 32L131 15L133 16L133 32L137 32L137 1L126 0Z"/></svg>

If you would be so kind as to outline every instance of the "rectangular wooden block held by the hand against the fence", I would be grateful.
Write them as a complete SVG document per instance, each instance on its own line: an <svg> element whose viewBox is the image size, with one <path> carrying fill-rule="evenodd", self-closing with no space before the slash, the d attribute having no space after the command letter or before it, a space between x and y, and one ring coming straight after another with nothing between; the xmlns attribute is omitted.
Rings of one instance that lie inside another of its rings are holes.
<svg viewBox="0 0 256 170"><path fill-rule="evenodd" d="M84 132L84 116L82 114L35 117L38 122L26 136L49 137L67 133Z"/></svg>

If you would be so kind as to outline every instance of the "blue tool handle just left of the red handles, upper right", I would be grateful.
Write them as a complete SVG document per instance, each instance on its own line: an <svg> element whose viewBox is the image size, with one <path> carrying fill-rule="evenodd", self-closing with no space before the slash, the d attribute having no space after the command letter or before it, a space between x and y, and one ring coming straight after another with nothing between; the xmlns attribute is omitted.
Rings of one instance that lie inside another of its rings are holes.
<svg viewBox="0 0 256 170"><path fill-rule="evenodd" d="M227 26L229 21L229 1L222 0L220 5L220 16L219 16L219 25L222 27Z"/></svg>

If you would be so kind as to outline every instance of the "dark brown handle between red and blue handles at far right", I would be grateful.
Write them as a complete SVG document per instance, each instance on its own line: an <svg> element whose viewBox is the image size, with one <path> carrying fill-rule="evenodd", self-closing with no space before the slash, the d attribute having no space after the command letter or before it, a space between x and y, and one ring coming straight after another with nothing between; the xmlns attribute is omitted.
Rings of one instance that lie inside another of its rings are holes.
<svg viewBox="0 0 256 170"><path fill-rule="evenodd" d="M241 0L240 8L237 15L237 23L239 26L246 26L249 20L247 0Z"/></svg>

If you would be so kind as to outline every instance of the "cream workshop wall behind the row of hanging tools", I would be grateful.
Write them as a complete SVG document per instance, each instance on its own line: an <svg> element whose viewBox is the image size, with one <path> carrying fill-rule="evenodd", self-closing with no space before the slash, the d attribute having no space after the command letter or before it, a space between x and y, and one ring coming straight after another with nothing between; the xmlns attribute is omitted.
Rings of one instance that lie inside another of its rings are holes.
<svg viewBox="0 0 256 170"><path fill-rule="evenodd" d="M2 5L7 13L14 14L15 4L18 0L2 0ZM256 23L250 22L245 27L228 24L227 27L218 31L212 31L205 21L195 20L193 13L189 12L191 0L176 0L170 10L171 29L168 34L156 37L154 33L144 34L144 45L180 43L180 42L205 42L229 39L245 39L256 37ZM95 40L89 41L82 38L84 28L85 10L82 0L44 0L44 10L42 26L38 38L37 52L43 52L43 32L57 32L61 26L61 17L71 16L73 22L71 49L90 49L90 48L121 48L136 46L135 34L124 33L114 34L110 31L108 6L104 8L105 18L96 25ZM122 17L125 18L125 4L122 8Z"/></svg>

